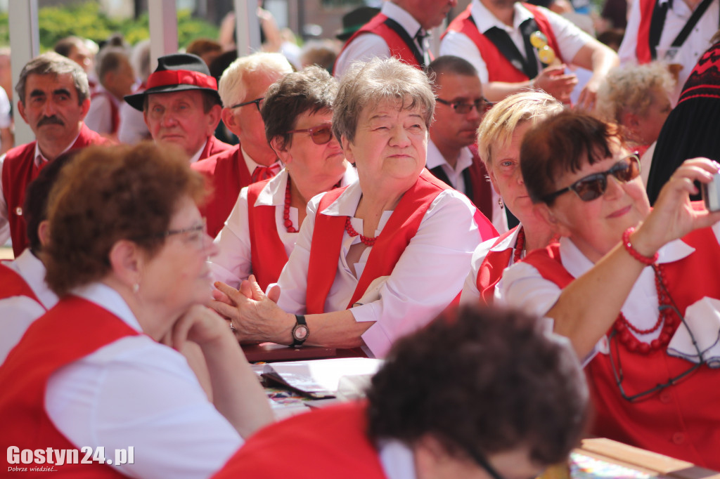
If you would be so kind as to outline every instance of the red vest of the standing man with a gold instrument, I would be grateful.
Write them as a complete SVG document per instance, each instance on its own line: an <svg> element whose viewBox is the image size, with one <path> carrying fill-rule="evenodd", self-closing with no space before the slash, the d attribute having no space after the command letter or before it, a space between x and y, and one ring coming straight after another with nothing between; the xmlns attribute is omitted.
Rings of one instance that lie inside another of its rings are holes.
<svg viewBox="0 0 720 479"><path fill-rule="evenodd" d="M555 39L555 34L552 31L545 15L534 5L523 4L523 6L528 9L531 14L533 14L540 31L547 37L548 45L555 50L555 55L560 62L563 62L557 40ZM467 35L467 37L475 44L477 50L480 51L482 60L485 61L488 81L504 81L508 83L528 81L529 78L525 75L525 73L515 68L513 64L510 63L510 61L505 58L502 53L500 53L500 50L498 50L498 48L495 47L495 45L490 42L485 35L482 35L482 33L477 30L477 27L472 22L472 19L470 19L471 9L472 4L469 4L464 12L459 14L452 22L450 22L450 25L443 36L447 35L447 32L459 32Z"/></svg>

